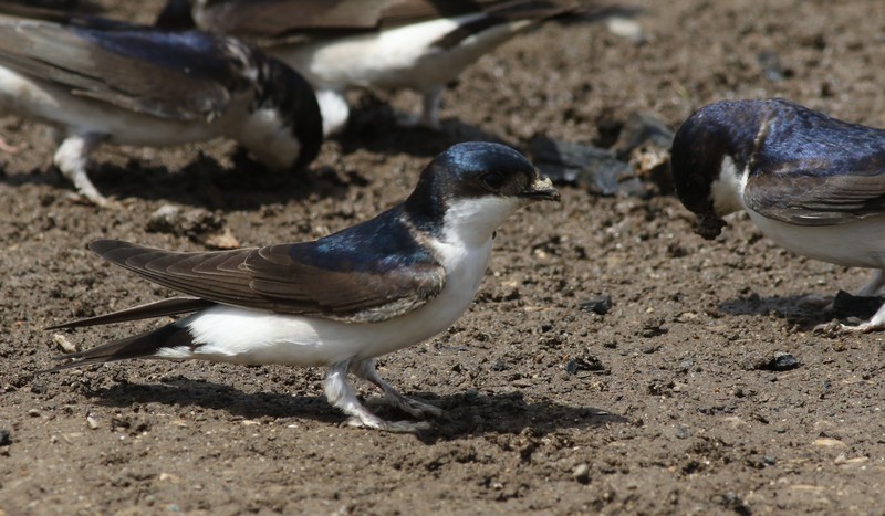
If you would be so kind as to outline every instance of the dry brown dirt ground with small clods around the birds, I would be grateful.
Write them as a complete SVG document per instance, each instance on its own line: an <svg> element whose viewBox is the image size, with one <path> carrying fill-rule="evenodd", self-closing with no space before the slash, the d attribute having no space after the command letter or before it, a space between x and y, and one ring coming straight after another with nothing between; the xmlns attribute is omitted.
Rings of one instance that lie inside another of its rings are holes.
<svg viewBox="0 0 885 516"><path fill-rule="evenodd" d="M103 7L149 20L157 3ZM340 427L319 369L33 375L56 340L91 347L159 324L42 329L168 294L84 249L205 249L148 224L164 204L208 210L242 245L291 242L392 206L465 139L610 146L632 113L677 127L725 97L885 126L881 0L620 6L644 41L604 22L524 34L447 91L442 134L396 126L388 106L412 95L355 94L352 126L300 177L231 158L229 143L106 148L92 176L123 209L100 210L67 198L44 128L3 118L19 151L0 156L0 514L881 514L883 335L814 333L830 317L799 303L867 273L790 255L742 217L705 242L667 194L565 186L561 208L512 218L469 312L381 361L447 411L417 436ZM606 314L586 309L603 295ZM779 370L777 354L798 367Z"/></svg>

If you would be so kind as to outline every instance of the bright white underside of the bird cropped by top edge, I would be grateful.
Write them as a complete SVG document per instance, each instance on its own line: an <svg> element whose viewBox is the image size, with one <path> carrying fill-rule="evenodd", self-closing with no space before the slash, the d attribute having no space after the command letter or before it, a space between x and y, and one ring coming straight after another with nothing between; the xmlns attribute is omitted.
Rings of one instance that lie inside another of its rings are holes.
<svg viewBox="0 0 885 516"><path fill-rule="evenodd" d="M373 34L267 51L301 72L316 88L363 86L427 91L451 82L483 53L531 24L528 20L514 21L467 38L451 49L431 46L462 23L481 17L433 20Z"/></svg>

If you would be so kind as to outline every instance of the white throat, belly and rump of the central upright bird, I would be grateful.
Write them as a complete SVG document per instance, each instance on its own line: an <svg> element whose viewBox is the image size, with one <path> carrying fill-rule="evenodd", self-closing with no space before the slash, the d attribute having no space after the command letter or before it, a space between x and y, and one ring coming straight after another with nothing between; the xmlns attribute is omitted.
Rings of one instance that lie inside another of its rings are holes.
<svg viewBox="0 0 885 516"><path fill-rule="evenodd" d="M491 239L479 248L461 249L457 254L444 256L447 281L442 292L400 317L347 324L217 306L180 323L189 327L201 346L194 350L169 349L163 356L237 364L324 366L392 352L433 337L461 316L479 289L490 251Z"/></svg>

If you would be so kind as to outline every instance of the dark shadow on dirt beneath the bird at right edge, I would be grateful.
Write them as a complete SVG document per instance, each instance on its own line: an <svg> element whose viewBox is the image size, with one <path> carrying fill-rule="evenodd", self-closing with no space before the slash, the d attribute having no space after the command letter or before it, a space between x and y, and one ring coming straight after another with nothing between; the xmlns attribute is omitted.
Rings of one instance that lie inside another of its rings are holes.
<svg viewBox="0 0 885 516"><path fill-rule="evenodd" d="M768 297L751 294L723 301L719 309L728 315L774 316L808 331L833 319L842 323L868 319L883 303L881 297L858 297L843 291L835 296L822 296L816 303L809 299L808 294Z"/></svg>

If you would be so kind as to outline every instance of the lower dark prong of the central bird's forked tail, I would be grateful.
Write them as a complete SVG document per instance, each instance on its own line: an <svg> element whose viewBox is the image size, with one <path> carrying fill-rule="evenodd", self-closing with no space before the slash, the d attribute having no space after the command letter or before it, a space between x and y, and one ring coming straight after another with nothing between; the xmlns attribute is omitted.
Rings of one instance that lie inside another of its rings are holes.
<svg viewBox="0 0 885 516"><path fill-rule="evenodd" d="M194 339L187 328L173 323L158 329L114 340L113 343L86 349L85 351L53 357L53 360L70 359L73 361L40 372L55 372L73 367L91 366L93 364L104 364L128 358L154 357L163 348L194 345Z"/></svg>

